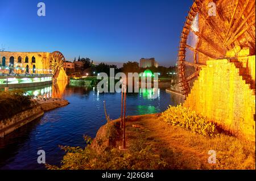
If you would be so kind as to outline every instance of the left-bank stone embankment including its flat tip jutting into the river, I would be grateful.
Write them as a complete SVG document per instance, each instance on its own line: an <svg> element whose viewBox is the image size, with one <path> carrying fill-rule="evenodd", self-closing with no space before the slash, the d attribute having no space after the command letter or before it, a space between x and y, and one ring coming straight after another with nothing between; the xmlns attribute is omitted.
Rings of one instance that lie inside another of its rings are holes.
<svg viewBox="0 0 256 181"><path fill-rule="evenodd" d="M0 120L0 137L5 137L6 134L9 134L19 127L38 119L40 116L44 115L44 111L53 110L68 104L68 101L64 99L45 99L38 100L37 102L37 106L29 110L20 112L9 119Z"/></svg>

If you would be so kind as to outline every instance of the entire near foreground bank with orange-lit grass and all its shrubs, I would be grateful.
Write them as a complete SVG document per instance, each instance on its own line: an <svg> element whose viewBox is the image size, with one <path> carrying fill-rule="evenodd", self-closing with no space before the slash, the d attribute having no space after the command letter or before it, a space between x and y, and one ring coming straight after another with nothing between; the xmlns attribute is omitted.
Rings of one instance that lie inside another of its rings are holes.
<svg viewBox="0 0 256 181"><path fill-rule="evenodd" d="M105 112L106 113L106 112ZM255 142L217 131L206 117L182 106L154 115L128 116L127 149L122 145L120 119L101 127L87 146L60 146L61 165L47 169L255 169ZM217 163L208 163L215 150Z"/></svg>

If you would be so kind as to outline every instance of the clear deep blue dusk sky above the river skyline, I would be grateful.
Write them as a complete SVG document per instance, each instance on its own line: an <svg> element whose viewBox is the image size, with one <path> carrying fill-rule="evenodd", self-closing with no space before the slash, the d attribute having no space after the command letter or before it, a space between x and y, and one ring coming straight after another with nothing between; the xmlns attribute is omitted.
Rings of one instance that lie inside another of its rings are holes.
<svg viewBox="0 0 256 181"><path fill-rule="evenodd" d="M37 15L39 2L46 4L46 16ZM67 60L96 62L155 57L171 66L191 5L192 0L0 0L0 49L59 50Z"/></svg>

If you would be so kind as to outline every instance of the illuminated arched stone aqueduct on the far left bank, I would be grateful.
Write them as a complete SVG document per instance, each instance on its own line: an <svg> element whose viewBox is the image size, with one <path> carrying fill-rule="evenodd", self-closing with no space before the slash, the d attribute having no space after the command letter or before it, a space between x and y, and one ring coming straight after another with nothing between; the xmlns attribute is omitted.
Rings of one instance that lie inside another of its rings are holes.
<svg viewBox="0 0 256 181"><path fill-rule="evenodd" d="M48 52L0 52L1 73L51 74Z"/></svg>

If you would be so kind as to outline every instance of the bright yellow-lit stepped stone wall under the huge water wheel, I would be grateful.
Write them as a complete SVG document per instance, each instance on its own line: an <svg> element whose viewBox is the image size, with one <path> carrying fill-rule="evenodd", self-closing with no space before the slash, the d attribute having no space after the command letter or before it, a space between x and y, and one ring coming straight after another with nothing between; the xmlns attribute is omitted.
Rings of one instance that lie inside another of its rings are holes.
<svg viewBox="0 0 256 181"><path fill-rule="evenodd" d="M255 56L247 60L255 87ZM207 61L183 105L234 135L255 141L255 88L236 65L226 59Z"/></svg>

